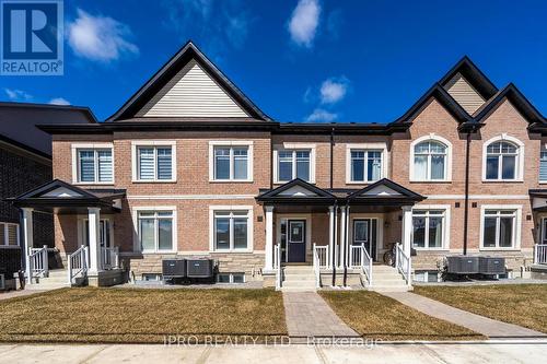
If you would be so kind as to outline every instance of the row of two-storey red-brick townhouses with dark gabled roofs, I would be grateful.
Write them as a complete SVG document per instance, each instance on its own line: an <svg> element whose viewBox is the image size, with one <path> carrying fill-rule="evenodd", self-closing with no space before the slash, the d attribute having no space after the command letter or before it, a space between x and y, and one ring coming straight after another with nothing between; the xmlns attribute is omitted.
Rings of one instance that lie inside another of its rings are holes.
<svg viewBox="0 0 547 364"><path fill-rule="evenodd" d="M437 280L464 245L516 271L547 237L547 124L468 58L393 122L284 124L188 43L105 122L40 129L56 179L15 203L57 212L56 247L73 268L89 246L94 284L118 249L137 279L207 256L221 282L279 285L295 262L328 285L382 272L397 242L403 277Z"/></svg>

